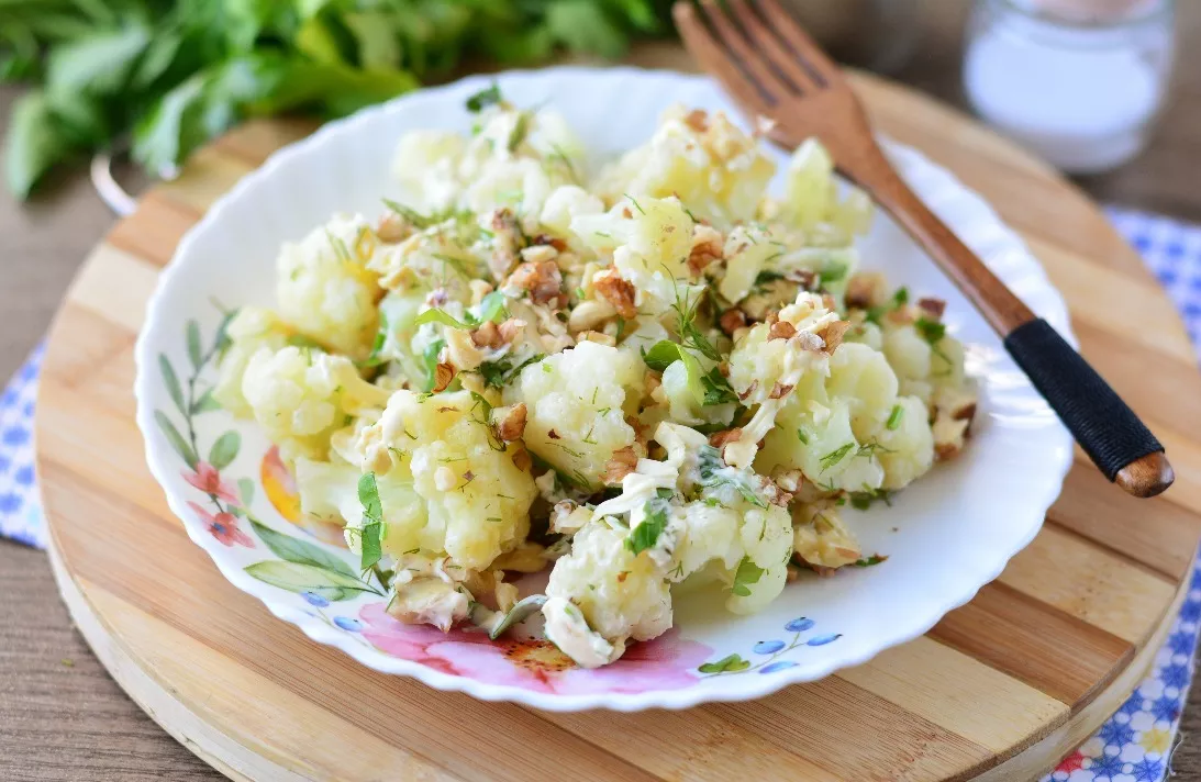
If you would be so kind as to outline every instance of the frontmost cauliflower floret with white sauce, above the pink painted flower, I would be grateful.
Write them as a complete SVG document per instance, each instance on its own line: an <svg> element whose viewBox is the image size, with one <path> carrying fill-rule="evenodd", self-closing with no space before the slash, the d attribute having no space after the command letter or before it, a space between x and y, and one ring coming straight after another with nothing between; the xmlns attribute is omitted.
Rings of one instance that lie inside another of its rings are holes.
<svg viewBox="0 0 1201 782"><path fill-rule="evenodd" d="M555 562L543 607L546 637L584 667L613 662L629 640L650 640L671 627L671 595L655 560L635 555L627 532L605 519L590 523L572 539L572 553ZM558 616L576 608L610 647L580 643L578 622ZM608 651L605 655L604 652Z"/></svg>

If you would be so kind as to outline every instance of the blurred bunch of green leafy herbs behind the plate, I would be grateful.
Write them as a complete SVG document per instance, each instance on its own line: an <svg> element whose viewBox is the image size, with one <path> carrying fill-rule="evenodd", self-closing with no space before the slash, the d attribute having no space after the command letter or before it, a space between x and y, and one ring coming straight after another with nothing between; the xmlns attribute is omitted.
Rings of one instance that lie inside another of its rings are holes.
<svg viewBox="0 0 1201 782"><path fill-rule="evenodd" d="M130 139L153 174L247 117L341 117L474 67L620 56L664 0L0 0L8 189ZM486 105L486 96L478 101Z"/></svg>

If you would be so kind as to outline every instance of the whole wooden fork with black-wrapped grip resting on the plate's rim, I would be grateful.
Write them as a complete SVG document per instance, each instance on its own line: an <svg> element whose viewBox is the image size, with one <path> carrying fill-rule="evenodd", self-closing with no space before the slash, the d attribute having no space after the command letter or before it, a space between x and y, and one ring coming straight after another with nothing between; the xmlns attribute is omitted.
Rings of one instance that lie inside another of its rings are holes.
<svg viewBox="0 0 1201 782"><path fill-rule="evenodd" d="M1093 462L1137 497L1172 484L1164 447L1134 411L1051 326L998 280L892 168L838 67L776 0L677 0L688 50L771 138L795 147L817 137L837 169L872 196L921 245L1004 339Z"/></svg>

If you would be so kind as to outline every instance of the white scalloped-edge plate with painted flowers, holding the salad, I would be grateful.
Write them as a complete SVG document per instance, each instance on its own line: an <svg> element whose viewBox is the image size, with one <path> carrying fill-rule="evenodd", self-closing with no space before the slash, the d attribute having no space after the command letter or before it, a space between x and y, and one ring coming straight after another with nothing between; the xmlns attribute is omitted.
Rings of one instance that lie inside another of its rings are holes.
<svg viewBox="0 0 1201 782"><path fill-rule="evenodd" d="M518 105L555 106L600 154L644 141L673 102L736 115L709 79L670 72L562 67L496 78ZM353 578L347 575L352 557L322 542L336 535L305 531L285 518L287 477L256 426L220 410L185 417L162 364L169 363L178 376L187 407L190 378L196 375L198 396L215 374L208 352L222 316L213 302L227 308L271 304L280 244L300 238L336 210L377 216L381 196L398 195L388 163L401 133L465 130L465 99L490 80L473 77L414 92L277 151L213 205L162 274L137 345L138 425L171 508L231 583L313 640L438 690L550 710L679 709L764 696L916 638L970 599L1033 539L1071 464L1071 438L984 320L908 237L877 216L862 243L865 264L886 270L914 292L948 300L945 321L969 345L968 368L981 389L974 436L958 459L906 489L892 507L848 511L864 550L886 554L886 562L847 568L829 579L802 578L755 616L715 615L695 601L681 601L676 631L598 671L564 668L545 641L491 644L478 634L443 635L388 620L383 598L362 591L371 584L347 580ZM931 208L1071 341L1063 299L1018 237L945 169L900 144L889 150ZM192 348L190 330L199 338ZM199 458L216 461L220 476L190 468L181 453L191 444L173 444L165 434L163 419L180 432L179 440L189 441L189 418ZM237 434L213 453L228 431ZM237 449L229 447L235 437ZM217 515L216 506L243 505L276 532L252 527L246 518ZM323 589L304 592L306 586Z"/></svg>

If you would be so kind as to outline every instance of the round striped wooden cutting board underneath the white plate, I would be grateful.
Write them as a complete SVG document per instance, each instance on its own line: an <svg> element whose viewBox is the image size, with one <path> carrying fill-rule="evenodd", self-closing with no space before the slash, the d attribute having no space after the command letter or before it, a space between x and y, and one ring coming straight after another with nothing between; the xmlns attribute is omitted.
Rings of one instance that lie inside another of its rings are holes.
<svg viewBox="0 0 1201 782"><path fill-rule="evenodd" d="M52 561L108 670L234 778L1012 781L1054 765L1147 671L1188 587L1201 538L1193 350L1137 256L1070 184L928 99L855 84L880 130L955 171L1026 237L1085 354L1167 446L1166 495L1130 499L1077 454L1042 532L968 605L864 665L757 702L545 714L369 670L226 583L168 511L133 423L133 341L159 270L217 196L311 130L251 123L118 223L50 335L37 470Z"/></svg>

